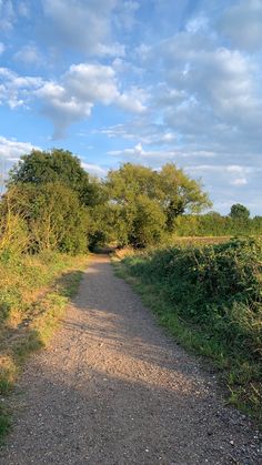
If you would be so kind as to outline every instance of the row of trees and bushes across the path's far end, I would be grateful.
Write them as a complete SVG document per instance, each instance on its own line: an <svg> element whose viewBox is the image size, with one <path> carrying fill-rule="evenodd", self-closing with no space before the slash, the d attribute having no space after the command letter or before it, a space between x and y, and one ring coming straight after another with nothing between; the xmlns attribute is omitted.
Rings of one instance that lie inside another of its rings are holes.
<svg viewBox="0 0 262 465"><path fill-rule="evenodd" d="M210 206L201 183L173 163L159 171L124 163L99 180L69 151L33 150L9 173L0 203L1 236L31 253L77 254L109 242L143 247L175 232L184 235L195 219L219 224L218 213L200 215Z"/></svg>

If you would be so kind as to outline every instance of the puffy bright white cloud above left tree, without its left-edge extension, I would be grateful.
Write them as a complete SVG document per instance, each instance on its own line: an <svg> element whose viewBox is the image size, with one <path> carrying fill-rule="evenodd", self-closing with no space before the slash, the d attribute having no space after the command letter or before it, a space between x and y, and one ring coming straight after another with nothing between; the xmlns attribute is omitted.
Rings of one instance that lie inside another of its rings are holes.
<svg viewBox="0 0 262 465"><path fill-rule="evenodd" d="M138 113L144 110L142 92L131 89L121 93L113 68L102 64L72 64L61 82L46 82L36 95L54 124L54 138L63 137L73 122L90 117L95 103L117 104Z"/></svg>

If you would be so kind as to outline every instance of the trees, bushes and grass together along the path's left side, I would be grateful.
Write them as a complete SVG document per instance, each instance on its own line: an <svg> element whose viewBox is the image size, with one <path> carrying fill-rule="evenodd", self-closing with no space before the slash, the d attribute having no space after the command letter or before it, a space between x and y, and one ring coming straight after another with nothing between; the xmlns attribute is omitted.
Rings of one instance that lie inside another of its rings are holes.
<svg viewBox="0 0 262 465"><path fill-rule="evenodd" d="M49 156L60 160L61 151L58 154ZM87 263L87 257L79 254L88 251L89 212L82 201L83 185L88 185L88 179L78 161L68 152L66 155L66 161L72 161L71 172L74 166L75 173L82 173L81 193L77 184L72 189L66 182L61 160L61 173L56 165L57 174L53 178L49 170L50 159L46 168L42 163L41 179L37 161L43 156L32 152L24 158L24 164L20 162L13 170L1 199L1 396L12 388L24 358L48 342L68 299L77 291L81 270ZM27 163L31 171L26 170ZM23 178L20 176L22 173ZM10 415L1 402L0 437L9 427Z"/></svg>

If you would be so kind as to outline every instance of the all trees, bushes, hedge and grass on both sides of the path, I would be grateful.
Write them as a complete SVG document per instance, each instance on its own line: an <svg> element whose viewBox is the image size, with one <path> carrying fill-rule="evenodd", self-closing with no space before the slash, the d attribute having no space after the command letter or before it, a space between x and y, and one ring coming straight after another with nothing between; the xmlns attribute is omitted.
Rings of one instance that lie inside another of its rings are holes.
<svg viewBox="0 0 262 465"><path fill-rule="evenodd" d="M200 182L172 163L160 171L125 163L98 180L69 151L24 154L0 201L0 393L56 327L80 280L81 256L111 243L144 250L124 270L150 289L162 322L185 345L223 367L235 402L256 412L261 245L184 242L192 235L260 235L262 218L250 219L240 204L228 216L202 214L210 206ZM0 435L10 423L2 408Z"/></svg>

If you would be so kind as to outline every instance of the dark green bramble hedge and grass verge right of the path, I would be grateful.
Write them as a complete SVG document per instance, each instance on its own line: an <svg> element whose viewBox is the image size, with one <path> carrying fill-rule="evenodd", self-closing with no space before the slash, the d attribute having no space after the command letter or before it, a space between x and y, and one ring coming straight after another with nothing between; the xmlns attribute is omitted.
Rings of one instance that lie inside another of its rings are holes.
<svg viewBox="0 0 262 465"><path fill-rule="evenodd" d="M261 242L144 251L115 267L177 342L212 362L229 402L261 424Z"/></svg>

